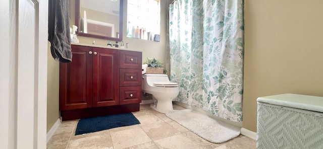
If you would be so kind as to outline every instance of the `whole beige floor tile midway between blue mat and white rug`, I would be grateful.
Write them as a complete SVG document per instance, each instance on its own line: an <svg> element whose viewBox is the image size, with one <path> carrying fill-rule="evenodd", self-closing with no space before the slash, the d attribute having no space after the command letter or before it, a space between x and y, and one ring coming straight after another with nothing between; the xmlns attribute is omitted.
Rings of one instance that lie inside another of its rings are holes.
<svg viewBox="0 0 323 149"><path fill-rule="evenodd" d="M148 136L152 140L172 136L175 134L179 134L180 132L176 130L174 127L169 125L168 123L158 123L151 125L143 125L142 129L148 134Z"/></svg>

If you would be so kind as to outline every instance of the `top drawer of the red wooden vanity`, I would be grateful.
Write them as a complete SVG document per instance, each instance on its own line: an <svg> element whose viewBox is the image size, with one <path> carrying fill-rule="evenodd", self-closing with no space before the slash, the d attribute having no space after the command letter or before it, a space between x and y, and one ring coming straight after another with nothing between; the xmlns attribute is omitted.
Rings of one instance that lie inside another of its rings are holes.
<svg viewBox="0 0 323 149"><path fill-rule="evenodd" d="M141 69L142 53L120 50L120 68Z"/></svg>

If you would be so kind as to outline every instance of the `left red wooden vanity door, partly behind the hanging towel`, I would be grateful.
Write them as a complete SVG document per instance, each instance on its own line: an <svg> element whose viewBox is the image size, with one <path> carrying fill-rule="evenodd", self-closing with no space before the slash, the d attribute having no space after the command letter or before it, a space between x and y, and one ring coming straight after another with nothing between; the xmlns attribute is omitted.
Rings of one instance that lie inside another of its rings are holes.
<svg viewBox="0 0 323 149"><path fill-rule="evenodd" d="M92 107L91 50L72 45L72 62L60 63L60 110Z"/></svg>

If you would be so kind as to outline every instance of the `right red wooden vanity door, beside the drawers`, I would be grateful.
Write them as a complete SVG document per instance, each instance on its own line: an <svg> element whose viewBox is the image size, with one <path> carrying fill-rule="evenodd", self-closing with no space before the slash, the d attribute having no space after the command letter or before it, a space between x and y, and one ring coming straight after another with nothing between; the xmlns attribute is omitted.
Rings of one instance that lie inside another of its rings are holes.
<svg viewBox="0 0 323 149"><path fill-rule="evenodd" d="M93 107L119 105L119 50L93 47Z"/></svg>

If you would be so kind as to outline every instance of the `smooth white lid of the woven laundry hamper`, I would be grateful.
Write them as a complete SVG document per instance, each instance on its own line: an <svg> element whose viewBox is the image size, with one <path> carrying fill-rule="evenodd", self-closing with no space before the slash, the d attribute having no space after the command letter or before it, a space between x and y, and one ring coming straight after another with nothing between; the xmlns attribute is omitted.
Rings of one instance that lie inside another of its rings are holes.
<svg viewBox="0 0 323 149"><path fill-rule="evenodd" d="M285 107L323 112L323 97L281 94L257 98L258 102L280 105Z"/></svg>

